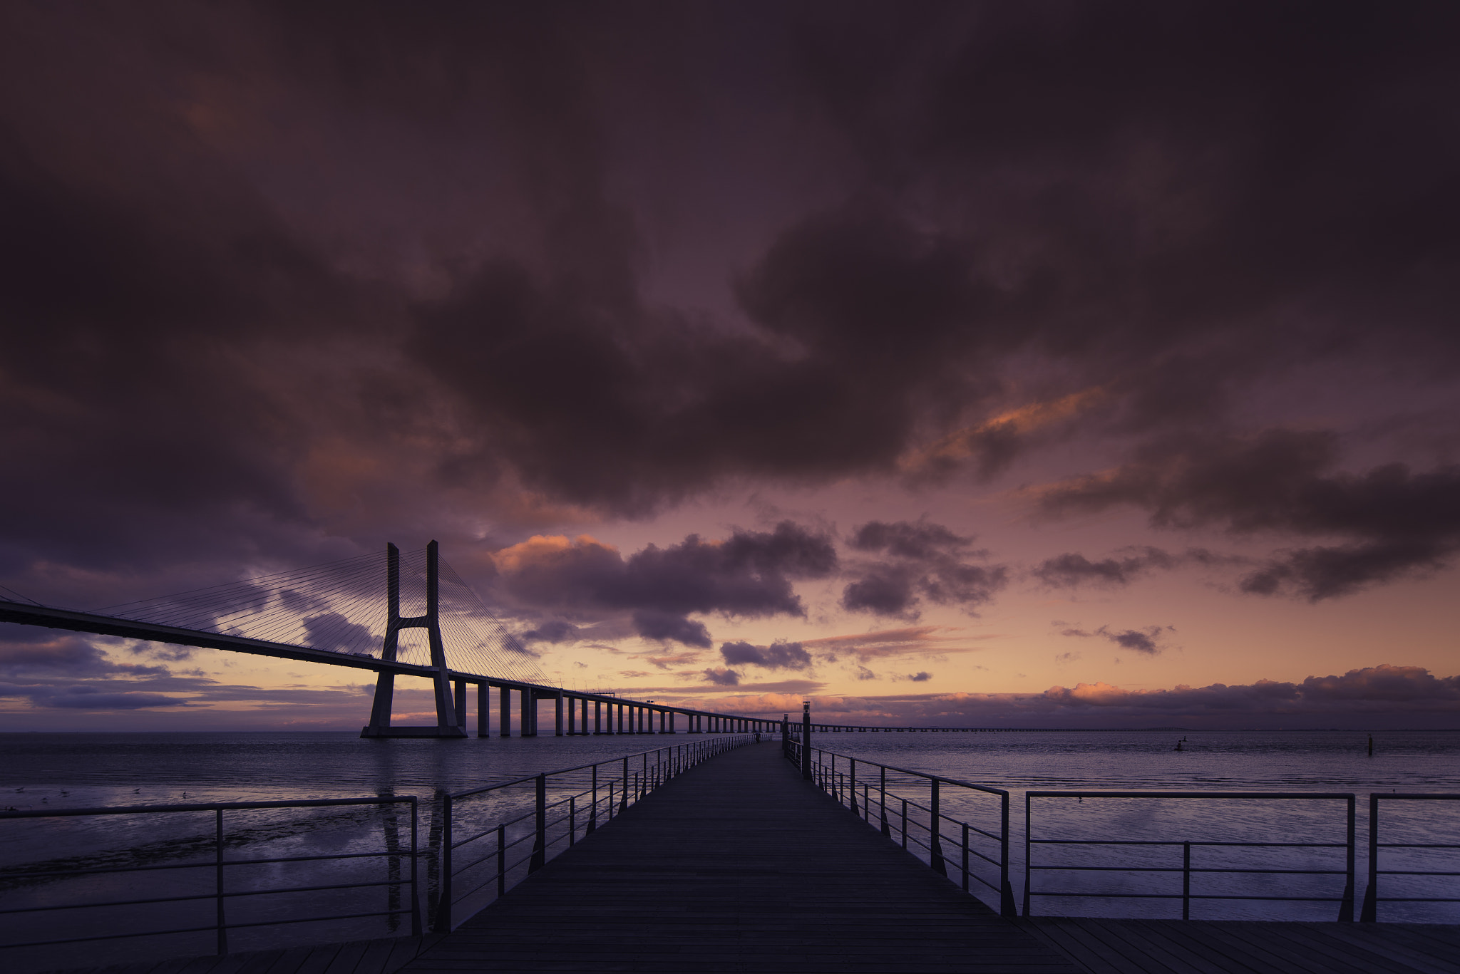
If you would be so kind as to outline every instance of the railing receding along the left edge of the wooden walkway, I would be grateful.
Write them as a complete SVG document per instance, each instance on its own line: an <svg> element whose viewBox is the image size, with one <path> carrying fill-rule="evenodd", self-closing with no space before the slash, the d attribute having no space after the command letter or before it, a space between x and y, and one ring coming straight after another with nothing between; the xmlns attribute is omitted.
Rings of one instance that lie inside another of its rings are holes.
<svg viewBox="0 0 1460 974"><path fill-rule="evenodd" d="M752 740L692 740L445 796L432 929L451 930L657 787Z"/></svg>

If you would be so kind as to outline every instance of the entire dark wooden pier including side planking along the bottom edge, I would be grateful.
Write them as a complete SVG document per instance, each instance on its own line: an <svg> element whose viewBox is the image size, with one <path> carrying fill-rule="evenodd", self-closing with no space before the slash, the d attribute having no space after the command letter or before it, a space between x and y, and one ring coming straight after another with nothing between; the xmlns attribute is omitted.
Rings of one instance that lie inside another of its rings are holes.
<svg viewBox="0 0 1460 974"><path fill-rule="evenodd" d="M101 971L1460 974L1460 926L1004 920L766 742L676 777L451 933Z"/></svg>

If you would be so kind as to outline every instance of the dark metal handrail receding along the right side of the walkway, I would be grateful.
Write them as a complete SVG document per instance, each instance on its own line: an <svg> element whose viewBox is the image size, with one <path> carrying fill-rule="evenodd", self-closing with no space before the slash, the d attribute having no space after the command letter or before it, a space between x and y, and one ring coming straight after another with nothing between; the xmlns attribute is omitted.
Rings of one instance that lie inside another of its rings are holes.
<svg viewBox="0 0 1460 974"><path fill-rule="evenodd" d="M794 726L791 727L794 730ZM806 767L802 762L802 742L794 737L783 740L784 755L788 761L797 767ZM847 808L853 815L860 818L867 825L872 822L872 784L866 780L861 781L861 803L857 802L857 765L870 765L877 768L877 808L879 808L879 822L873 828L879 828L882 834L889 841L898 841L892 837L894 822L896 822L896 832L901 840L902 848L908 847L908 841L914 845L921 847L927 851L929 866L933 872L940 876L948 876L948 860L949 857L943 853L943 840L948 840L961 853L958 859L958 873L961 878L959 886L964 892L972 894L969 889L969 881L977 882L993 892L999 898L999 913L1004 917L1018 916L1015 910L1013 888L1009 885L1009 793L1003 789L988 787L986 784L974 784L972 781L964 781L961 778L949 778L940 774L927 774L924 771L912 771L910 768L899 768L891 764L880 764L877 761L867 761L866 758L854 758L851 755L835 753L831 751L823 751L821 748L810 748L812 762L812 781L826 791L838 805ZM837 768L837 759L841 758L847 761L847 771L842 772ZM920 805L918 802L894 794L894 799L901 802L901 808L894 812L892 819L888 819L888 771L895 774L904 774L914 778L923 778L929 783L929 803ZM971 791L978 791L983 794L993 794L999 797L999 828L997 831L990 831L964 822L946 815L942 810L942 786L953 786L961 789L968 789ZM927 822L920 822L917 815L910 816L908 810L923 812ZM945 824L950 824L959 829L958 835L948 835L943 831ZM918 828L926 834L926 840L910 832L911 828ZM977 841L974 837L983 837L997 844L997 857L987 856L977 845L969 844L971 840ZM997 882L991 882L980 876L972 867L971 860L981 860L990 866L997 867L999 878Z"/></svg>

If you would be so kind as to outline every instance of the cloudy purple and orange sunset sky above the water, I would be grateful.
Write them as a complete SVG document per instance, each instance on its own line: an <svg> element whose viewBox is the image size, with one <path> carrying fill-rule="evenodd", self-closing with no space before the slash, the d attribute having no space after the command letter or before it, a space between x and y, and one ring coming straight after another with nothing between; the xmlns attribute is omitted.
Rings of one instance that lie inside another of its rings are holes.
<svg viewBox="0 0 1460 974"><path fill-rule="evenodd" d="M0 18L0 596L437 539L572 689L1460 727L1453 3ZM369 676L4 625L0 730Z"/></svg>

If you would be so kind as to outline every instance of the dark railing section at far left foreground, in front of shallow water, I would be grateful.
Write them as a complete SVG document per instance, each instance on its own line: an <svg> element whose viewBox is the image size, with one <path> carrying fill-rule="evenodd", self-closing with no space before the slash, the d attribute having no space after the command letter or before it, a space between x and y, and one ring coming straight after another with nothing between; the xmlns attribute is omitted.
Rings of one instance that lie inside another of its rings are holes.
<svg viewBox="0 0 1460 974"><path fill-rule="evenodd" d="M402 805L410 812L409 845L400 837L402 816L396 809ZM383 815L362 819L356 810L368 806L380 806ZM248 815L267 809L340 809L342 813L285 822ZM54 949L67 943L210 935L218 954L226 954L229 930L371 917L385 919L388 929L396 930L404 916L410 917L412 935L419 936L416 810L415 796L381 796L3 812L0 819L7 822L82 819L79 825L67 825L64 837L74 847L91 847L91 853L0 870L0 889L10 894L6 900L13 902L16 892L32 898L26 905L0 901L4 904L0 926L19 937L0 948L12 959L15 955L9 951L50 948L47 959L57 961ZM212 822L172 818L194 813L209 815ZM225 813L229 813L228 822ZM232 831L229 822L234 822ZM365 838L381 827L381 848L361 848L362 825ZM130 844L139 835L150 838L140 850L111 847L117 838ZM320 845L326 848L337 850L343 844L350 851L317 851L310 841L315 835L323 837ZM15 835L12 829L6 838L12 851L34 848L54 854L55 837L45 832ZM267 851L270 845L273 851L295 854L229 856L229 850ZM175 857L184 862L158 862ZM96 864L86 864L88 860ZM134 864L108 864L117 860ZM384 869L374 869L371 863L383 863ZM292 885L291 872L295 873ZM35 895L38 886L50 888ZM385 891L384 910L359 908L368 904L349 892L368 889ZM321 892L330 895L321 898ZM318 913L321 901L333 911ZM145 926L156 920L171 920L172 926ZM358 930L353 933L358 936Z"/></svg>

